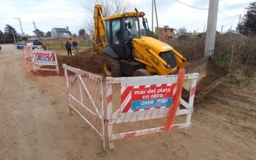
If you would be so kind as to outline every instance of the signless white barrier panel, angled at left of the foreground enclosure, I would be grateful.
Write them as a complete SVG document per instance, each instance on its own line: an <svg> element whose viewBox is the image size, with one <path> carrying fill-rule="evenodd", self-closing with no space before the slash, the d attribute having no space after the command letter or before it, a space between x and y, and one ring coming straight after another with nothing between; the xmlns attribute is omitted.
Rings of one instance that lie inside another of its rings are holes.
<svg viewBox="0 0 256 160"><path fill-rule="evenodd" d="M67 84L70 114L72 110L75 111L99 134L105 150L103 78L65 64L62 67Z"/></svg>

